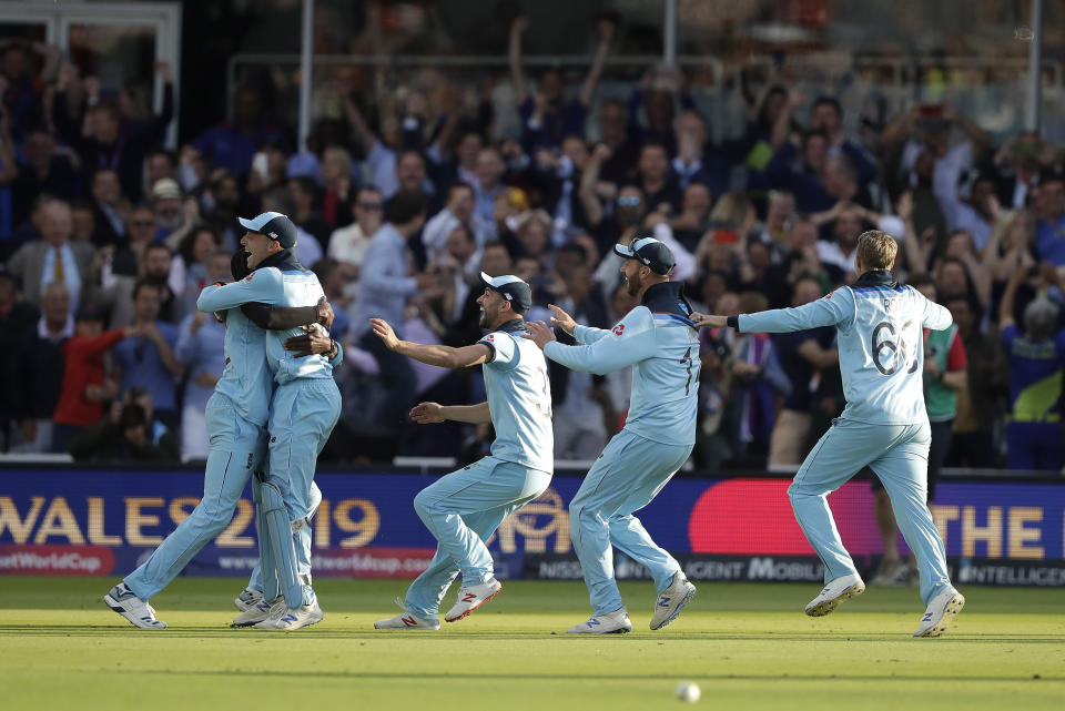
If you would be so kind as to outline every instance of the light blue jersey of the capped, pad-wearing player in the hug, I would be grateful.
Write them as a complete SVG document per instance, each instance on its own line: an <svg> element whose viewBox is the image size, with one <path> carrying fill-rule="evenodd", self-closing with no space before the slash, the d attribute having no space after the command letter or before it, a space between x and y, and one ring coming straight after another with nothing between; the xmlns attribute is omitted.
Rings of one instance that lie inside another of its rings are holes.
<svg viewBox="0 0 1065 711"><path fill-rule="evenodd" d="M274 261L276 260L267 258L264 264ZM293 266L295 268L291 268ZM323 295L322 285L314 272L300 267L298 263L281 263L278 266L260 265L260 268L240 282L205 287L196 301L196 307L200 311L224 311L251 302L272 306L314 306ZM297 358L285 351L285 341L302 334L298 328L270 331L265 334L266 364L278 385L296 378L333 377L333 363L324 355Z"/></svg>

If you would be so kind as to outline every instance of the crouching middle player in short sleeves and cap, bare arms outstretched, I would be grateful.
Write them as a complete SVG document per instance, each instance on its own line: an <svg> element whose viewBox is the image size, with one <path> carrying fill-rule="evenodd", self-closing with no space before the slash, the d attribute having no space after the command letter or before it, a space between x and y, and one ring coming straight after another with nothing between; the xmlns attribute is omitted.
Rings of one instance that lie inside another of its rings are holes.
<svg viewBox="0 0 1065 711"><path fill-rule="evenodd" d="M480 326L490 333L474 345L452 348L400 341L386 322L369 319L377 337L400 355L447 368L484 364L488 402L422 403L410 410L416 423L491 423L496 430L490 456L442 477L414 498L415 510L439 546L406 599L396 600L403 614L378 620L374 627L379 630L439 630L440 601L459 572L463 587L445 620L460 620L495 597L503 585L494 576L485 541L507 516L547 489L555 470L547 363L520 337L532 290L517 276L480 277L485 283L477 299Z"/></svg>

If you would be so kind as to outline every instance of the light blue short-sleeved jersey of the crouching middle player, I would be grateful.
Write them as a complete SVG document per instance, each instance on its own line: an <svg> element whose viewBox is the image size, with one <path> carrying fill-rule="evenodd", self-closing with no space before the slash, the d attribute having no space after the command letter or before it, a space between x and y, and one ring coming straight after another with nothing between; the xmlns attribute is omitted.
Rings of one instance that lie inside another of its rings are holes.
<svg viewBox="0 0 1065 711"><path fill-rule="evenodd" d="M496 439L491 456L552 474L551 384L547 360L531 341L521 337L525 323L508 321L477 343L491 348L484 364L488 410Z"/></svg>

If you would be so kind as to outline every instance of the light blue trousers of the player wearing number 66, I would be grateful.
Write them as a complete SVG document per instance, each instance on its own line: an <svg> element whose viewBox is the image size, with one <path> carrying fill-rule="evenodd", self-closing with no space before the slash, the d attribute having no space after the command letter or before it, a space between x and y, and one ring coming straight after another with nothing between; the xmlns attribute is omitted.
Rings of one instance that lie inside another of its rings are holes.
<svg viewBox="0 0 1065 711"><path fill-rule="evenodd" d="M951 587L943 539L925 502L931 443L927 421L870 425L833 420L788 487L795 520L824 563L825 582L858 572L825 497L869 466L884 485L899 529L917 557L924 603Z"/></svg>

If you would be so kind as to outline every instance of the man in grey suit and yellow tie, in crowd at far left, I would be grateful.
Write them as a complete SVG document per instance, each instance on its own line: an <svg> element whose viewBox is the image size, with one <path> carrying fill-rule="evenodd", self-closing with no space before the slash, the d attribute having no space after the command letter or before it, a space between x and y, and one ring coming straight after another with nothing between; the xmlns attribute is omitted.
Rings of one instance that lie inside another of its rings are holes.
<svg viewBox="0 0 1065 711"><path fill-rule="evenodd" d="M89 283L93 248L91 244L70 241L73 221L64 201L50 200L42 211L42 238L23 244L8 262L8 270L19 277L22 295L31 304L40 305L44 287L62 282L70 292L73 313Z"/></svg>

